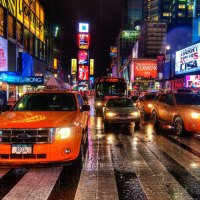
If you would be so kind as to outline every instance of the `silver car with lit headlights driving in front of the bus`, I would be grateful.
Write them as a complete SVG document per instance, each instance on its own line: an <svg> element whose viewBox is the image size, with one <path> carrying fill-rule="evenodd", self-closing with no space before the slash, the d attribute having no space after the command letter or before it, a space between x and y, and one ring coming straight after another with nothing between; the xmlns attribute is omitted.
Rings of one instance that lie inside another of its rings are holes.
<svg viewBox="0 0 200 200"><path fill-rule="evenodd" d="M135 122L136 127L139 127L140 113L130 99L119 97L106 102L103 108L103 119L105 126L113 123Z"/></svg>

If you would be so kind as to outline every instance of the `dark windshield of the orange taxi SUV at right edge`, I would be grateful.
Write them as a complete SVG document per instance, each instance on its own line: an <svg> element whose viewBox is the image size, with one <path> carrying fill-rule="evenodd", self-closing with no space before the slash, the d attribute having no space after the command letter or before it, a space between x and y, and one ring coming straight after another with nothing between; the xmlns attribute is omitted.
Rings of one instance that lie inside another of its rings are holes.
<svg viewBox="0 0 200 200"><path fill-rule="evenodd" d="M198 94L175 94L178 105L200 105L200 95Z"/></svg>

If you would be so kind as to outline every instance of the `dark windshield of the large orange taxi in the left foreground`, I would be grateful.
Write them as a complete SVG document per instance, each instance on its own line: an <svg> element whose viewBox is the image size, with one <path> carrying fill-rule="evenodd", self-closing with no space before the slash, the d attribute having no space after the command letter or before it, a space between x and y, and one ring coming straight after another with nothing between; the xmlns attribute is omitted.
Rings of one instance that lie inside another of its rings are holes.
<svg viewBox="0 0 200 200"><path fill-rule="evenodd" d="M73 94L37 93L25 94L12 111L75 111Z"/></svg>

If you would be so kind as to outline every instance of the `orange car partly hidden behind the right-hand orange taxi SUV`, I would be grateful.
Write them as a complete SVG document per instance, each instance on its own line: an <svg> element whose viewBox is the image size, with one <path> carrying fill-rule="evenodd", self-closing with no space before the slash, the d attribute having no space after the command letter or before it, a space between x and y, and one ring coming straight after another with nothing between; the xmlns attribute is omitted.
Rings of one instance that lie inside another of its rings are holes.
<svg viewBox="0 0 200 200"><path fill-rule="evenodd" d="M145 117L151 115L151 109L156 96L156 93L145 93L139 96L138 100L136 101L136 106L142 116Z"/></svg>

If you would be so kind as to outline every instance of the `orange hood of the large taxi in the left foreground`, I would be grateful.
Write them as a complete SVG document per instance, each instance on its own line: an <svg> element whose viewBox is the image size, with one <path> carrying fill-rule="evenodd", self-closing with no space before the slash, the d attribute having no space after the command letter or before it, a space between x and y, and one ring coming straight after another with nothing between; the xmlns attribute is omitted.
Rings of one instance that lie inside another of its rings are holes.
<svg viewBox="0 0 200 200"><path fill-rule="evenodd" d="M79 112L79 111L78 111ZM77 111L69 112L13 112L8 111L0 115L0 128L54 128L71 126L79 122Z"/></svg>

